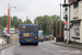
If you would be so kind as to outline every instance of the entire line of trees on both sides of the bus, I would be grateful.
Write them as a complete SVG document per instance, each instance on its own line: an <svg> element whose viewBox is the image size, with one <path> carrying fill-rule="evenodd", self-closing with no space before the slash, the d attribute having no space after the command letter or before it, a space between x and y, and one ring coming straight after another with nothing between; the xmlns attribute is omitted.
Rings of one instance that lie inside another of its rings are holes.
<svg viewBox="0 0 82 55"><path fill-rule="evenodd" d="M7 28L8 25L8 15L2 15L2 25L3 28ZM20 24L32 24L32 21L30 19L26 19L24 22L19 19L17 16L11 16L11 28L19 29ZM59 34L59 25L60 25L60 16L59 15L44 15L44 16L37 16L34 20L34 24L38 24L38 30L43 30L44 33L51 34L51 25L54 29L54 35L56 35L56 21L57 21L57 34ZM63 31L63 21L61 22L61 31Z"/></svg>

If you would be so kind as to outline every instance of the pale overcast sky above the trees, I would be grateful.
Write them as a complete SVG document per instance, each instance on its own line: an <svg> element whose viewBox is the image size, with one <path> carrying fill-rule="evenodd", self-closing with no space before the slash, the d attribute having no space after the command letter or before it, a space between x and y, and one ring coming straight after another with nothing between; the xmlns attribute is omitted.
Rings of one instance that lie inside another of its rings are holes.
<svg viewBox="0 0 82 55"><path fill-rule="evenodd" d="M8 14L8 4L11 8L11 15L16 15L23 21L26 16L34 22L36 16L40 15L60 15L59 4L63 3L63 0L0 0L0 16Z"/></svg>

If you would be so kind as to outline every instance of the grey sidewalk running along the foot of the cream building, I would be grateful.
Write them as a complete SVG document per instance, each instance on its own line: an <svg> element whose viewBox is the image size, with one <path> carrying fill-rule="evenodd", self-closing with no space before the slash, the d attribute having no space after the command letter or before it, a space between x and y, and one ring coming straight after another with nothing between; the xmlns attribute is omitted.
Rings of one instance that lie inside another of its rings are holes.
<svg viewBox="0 0 82 55"><path fill-rule="evenodd" d="M50 43L56 44L56 45L60 45L60 46L67 46L67 47L73 47L73 48L82 50L82 44L67 44L63 42L55 42L55 41L50 41Z"/></svg>

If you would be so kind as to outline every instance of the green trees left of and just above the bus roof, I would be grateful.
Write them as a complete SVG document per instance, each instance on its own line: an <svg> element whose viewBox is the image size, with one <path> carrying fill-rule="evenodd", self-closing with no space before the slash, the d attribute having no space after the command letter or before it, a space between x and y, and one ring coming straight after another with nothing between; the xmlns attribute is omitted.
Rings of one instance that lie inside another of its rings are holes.
<svg viewBox="0 0 82 55"><path fill-rule="evenodd" d="M7 28L8 15L2 15L0 18L2 18L2 26ZM10 16L10 19L11 19L11 28L20 29L20 24L32 24L32 21L30 19L24 22L21 19L19 19L17 16L13 16L13 18Z"/></svg>

